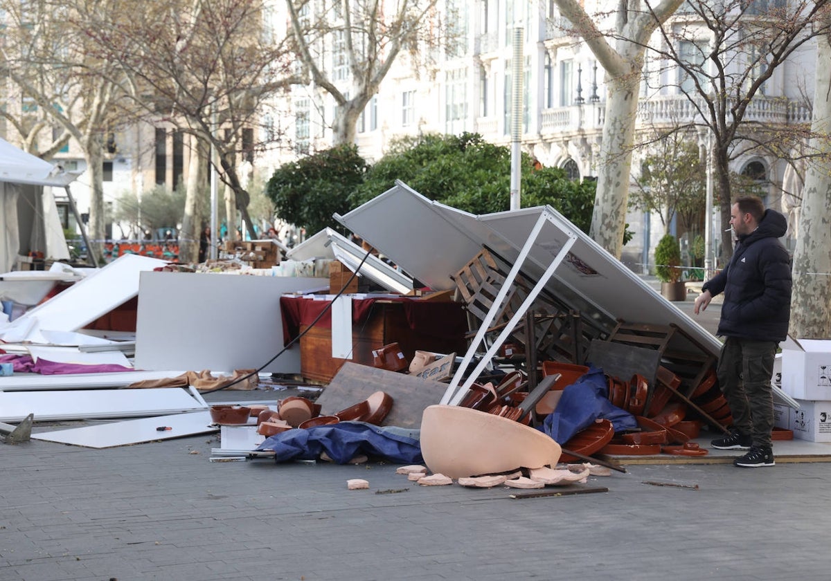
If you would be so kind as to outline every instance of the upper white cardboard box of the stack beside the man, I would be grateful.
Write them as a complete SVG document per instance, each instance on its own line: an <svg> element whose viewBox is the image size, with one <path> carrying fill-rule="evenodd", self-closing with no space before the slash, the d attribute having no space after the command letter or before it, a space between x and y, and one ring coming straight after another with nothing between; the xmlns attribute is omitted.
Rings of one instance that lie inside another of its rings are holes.
<svg viewBox="0 0 831 581"><path fill-rule="evenodd" d="M831 400L831 340L789 337L782 344L782 389L796 399Z"/></svg>

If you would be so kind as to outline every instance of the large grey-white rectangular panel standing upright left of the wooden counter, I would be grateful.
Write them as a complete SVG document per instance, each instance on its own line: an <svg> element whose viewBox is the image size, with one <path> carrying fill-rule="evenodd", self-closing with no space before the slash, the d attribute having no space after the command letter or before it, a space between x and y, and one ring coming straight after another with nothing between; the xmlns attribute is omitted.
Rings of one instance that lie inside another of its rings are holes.
<svg viewBox="0 0 831 581"><path fill-rule="evenodd" d="M280 296L319 285L315 278L144 272L135 367L258 369L283 349ZM299 373L300 349L288 349L261 371Z"/></svg>

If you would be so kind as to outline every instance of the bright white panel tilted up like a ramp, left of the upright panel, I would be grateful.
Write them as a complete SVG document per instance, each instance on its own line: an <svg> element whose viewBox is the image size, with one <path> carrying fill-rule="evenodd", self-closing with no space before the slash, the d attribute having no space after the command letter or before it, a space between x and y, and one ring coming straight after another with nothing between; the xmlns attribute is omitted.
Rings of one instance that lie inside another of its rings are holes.
<svg viewBox="0 0 831 581"><path fill-rule="evenodd" d="M149 256L125 254L87 275L66 291L42 305L27 310L10 325L17 329L31 325L53 331L74 331L106 315L139 293L139 273L165 266L166 261Z"/></svg>

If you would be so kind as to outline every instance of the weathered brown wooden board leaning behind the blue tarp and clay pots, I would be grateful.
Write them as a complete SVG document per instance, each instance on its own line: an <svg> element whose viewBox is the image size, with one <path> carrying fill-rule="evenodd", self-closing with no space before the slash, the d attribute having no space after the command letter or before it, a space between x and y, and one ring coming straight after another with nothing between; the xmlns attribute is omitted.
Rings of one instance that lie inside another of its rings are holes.
<svg viewBox="0 0 831 581"><path fill-rule="evenodd" d="M445 383L347 361L323 389L317 403L322 415L330 415L383 391L391 396L392 409L381 425L418 428L424 409L440 403L446 389Z"/></svg>

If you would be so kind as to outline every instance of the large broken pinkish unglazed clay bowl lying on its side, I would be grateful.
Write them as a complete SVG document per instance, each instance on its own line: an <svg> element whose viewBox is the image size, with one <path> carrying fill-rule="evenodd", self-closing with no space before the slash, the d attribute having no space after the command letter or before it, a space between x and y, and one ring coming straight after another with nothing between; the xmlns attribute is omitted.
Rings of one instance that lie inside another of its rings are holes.
<svg viewBox="0 0 831 581"><path fill-rule="evenodd" d="M420 441L430 471L450 478L556 466L562 452L533 427L459 406L425 408Z"/></svg>

